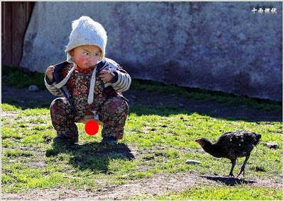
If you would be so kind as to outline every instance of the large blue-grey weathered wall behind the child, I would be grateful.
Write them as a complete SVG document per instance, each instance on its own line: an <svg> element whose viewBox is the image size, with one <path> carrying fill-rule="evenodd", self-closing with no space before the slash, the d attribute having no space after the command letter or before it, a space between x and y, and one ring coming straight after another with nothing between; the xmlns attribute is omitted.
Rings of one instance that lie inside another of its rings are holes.
<svg viewBox="0 0 284 201"><path fill-rule="evenodd" d="M108 33L106 57L132 78L282 101L282 2L36 2L21 66L66 59L71 21ZM277 8L277 13L253 8Z"/></svg>

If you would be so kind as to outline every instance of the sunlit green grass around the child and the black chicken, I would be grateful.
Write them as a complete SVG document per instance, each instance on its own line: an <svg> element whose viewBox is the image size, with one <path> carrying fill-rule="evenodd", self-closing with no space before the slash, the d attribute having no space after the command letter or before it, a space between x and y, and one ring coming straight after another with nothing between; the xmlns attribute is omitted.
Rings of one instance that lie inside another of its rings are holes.
<svg viewBox="0 0 284 201"><path fill-rule="evenodd" d="M13 115L11 115L13 114ZM251 152L246 180L279 180L283 173L282 122L228 120L189 113L180 108L132 106L124 139L116 147L99 144L101 129L94 136L77 124L80 144L75 147L52 143L56 132L48 108L23 109L1 104L1 191L19 193L65 187L75 190L115 188L146 180L158 173L191 173L220 177L228 174L228 159L206 154L194 140L207 137L215 141L229 130L250 130L262 135L261 142L276 142L278 149L263 143ZM201 161L187 165L187 159ZM234 174L244 158L238 159ZM185 178L187 179L187 178ZM87 193L87 192L86 192ZM134 200L282 200L282 189L259 188L251 183L227 185L200 184L163 195L130 197Z"/></svg>

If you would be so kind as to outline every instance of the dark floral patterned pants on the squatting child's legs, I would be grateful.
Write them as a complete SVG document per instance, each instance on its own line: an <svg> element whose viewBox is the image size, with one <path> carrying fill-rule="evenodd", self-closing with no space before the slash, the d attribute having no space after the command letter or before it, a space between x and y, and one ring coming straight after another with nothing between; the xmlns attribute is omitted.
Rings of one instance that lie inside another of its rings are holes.
<svg viewBox="0 0 284 201"><path fill-rule="evenodd" d="M120 97L112 97L104 101L97 110L99 120L104 122L102 137L122 139L129 105ZM66 98L56 98L50 105L50 116L58 136L75 137L78 135L78 116L71 115L70 104Z"/></svg>

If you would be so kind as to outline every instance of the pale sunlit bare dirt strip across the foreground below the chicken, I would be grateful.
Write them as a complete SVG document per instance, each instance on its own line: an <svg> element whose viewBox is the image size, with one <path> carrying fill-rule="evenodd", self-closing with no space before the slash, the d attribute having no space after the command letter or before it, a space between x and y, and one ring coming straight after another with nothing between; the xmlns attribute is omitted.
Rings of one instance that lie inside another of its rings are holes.
<svg viewBox="0 0 284 201"><path fill-rule="evenodd" d="M129 184L104 187L98 190L48 188L25 193L4 193L2 200L129 200L131 197L164 195L182 191L195 185L216 186L250 185L261 188L282 188L282 180L242 180L218 176L199 176L192 173L157 173L151 178L130 181Z"/></svg>

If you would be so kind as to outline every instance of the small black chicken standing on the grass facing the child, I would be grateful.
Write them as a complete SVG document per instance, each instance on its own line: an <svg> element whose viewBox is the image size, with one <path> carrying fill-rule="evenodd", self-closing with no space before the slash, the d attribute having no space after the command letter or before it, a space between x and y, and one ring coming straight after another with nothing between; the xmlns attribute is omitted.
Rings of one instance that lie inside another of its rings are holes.
<svg viewBox="0 0 284 201"><path fill-rule="evenodd" d="M246 156L241 171L237 177L244 172L246 162L249 160L253 147L258 144L261 139L261 134L249 132L245 130L229 131L222 134L217 142L210 142L208 139L202 137L195 140L208 154L217 158L226 158L231 160L231 171L229 176L234 177L233 170L236 165L236 159Z"/></svg>

